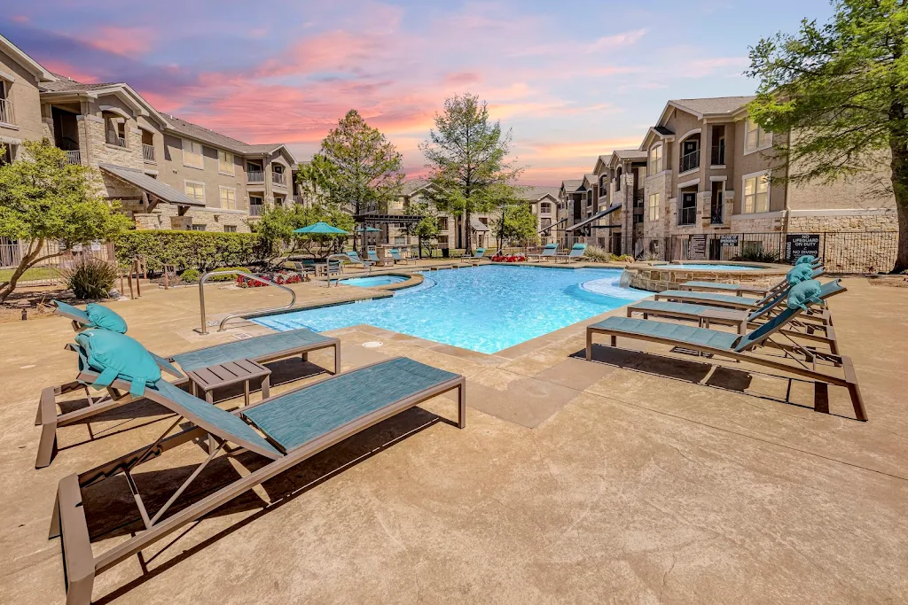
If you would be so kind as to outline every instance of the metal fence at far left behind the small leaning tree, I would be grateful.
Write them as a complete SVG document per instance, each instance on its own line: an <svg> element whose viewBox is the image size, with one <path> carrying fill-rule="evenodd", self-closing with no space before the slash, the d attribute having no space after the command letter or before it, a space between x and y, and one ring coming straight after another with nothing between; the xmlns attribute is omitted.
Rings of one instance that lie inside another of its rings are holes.
<svg viewBox="0 0 908 605"><path fill-rule="evenodd" d="M27 247L24 243L0 243L0 283L6 281L22 262ZM41 249L40 256L49 258L38 262L27 269L19 278L19 286L56 286L64 281L66 269L74 268L85 259L102 259L115 263L114 244L94 243L74 246L71 249L62 247L58 242L47 242Z"/></svg>

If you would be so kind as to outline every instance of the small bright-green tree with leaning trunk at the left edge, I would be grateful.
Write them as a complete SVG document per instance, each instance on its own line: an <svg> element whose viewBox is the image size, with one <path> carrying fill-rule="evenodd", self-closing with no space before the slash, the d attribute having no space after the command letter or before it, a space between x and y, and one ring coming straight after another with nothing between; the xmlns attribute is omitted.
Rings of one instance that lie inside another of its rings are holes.
<svg viewBox="0 0 908 605"><path fill-rule="evenodd" d="M108 241L132 224L118 202L98 196L94 171L67 163L65 151L48 141L24 145L23 160L0 166L0 236L19 240L22 249L13 274L0 280L0 302L26 270L59 256L57 244Z"/></svg>

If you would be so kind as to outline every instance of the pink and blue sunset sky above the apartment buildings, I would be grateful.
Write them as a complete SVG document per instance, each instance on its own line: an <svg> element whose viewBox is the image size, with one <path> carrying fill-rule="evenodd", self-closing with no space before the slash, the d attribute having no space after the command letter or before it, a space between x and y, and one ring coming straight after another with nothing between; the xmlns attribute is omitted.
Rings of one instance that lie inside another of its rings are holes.
<svg viewBox="0 0 908 605"><path fill-rule="evenodd" d="M410 176L445 97L479 94L513 129L521 182L557 185L637 148L668 99L753 93L747 46L830 14L827 0L5 0L0 32L54 72L129 83L299 160L355 108Z"/></svg>

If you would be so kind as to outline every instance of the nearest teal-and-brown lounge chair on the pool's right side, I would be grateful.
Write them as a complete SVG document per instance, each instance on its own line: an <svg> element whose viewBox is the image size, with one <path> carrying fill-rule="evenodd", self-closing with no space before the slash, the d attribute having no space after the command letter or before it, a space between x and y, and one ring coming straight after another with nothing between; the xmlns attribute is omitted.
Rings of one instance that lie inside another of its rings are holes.
<svg viewBox="0 0 908 605"><path fill-rule="evenodd" d="M809 285L799 284L795 288ZM699 354L724 356L735 361L745 361L756 366L767 367L774 370L788 372L795 376L804 376L814 381L814 401L821 404L828 398L829 385L844 386L848 389L854 407L854 415L858 420L866 421L867 413L864 409L864 400L858 388L857 376L854 373L854 364L851 358L832 353L822 353L814 349L799 345L794 340L782 338L774 340L773 337L784 336L783 329L791 321L803 313L803 307L792 304L792 296L797 290L792 288L789 293L789 305L778 315L756 327L747 334L740 335L731 332L706 329L703 327L685 326L648 319L634 319L628 317L607 317L603 321L587 327L587 361L593 358L593 337L604 334L610 337L610 346L617 347L617 337L633 338L663 345L677 346L686 350L693 350ZM824 284L820 288L820 295L829 297L834 290L844 291L836 279ZM779 356L759 356L757 347L773 347L781 350L784 356L795 363L784 363ZM797 356L802 356L799 359ZM834 366L841 366L844 377L827 374L816 369L816 361L831 362Z"/></svg>

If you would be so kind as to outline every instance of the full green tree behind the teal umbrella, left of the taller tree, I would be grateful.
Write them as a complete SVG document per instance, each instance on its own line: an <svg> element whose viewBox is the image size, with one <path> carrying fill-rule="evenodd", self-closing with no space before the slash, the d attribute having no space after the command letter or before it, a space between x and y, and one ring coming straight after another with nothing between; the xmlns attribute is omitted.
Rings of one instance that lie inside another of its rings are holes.
<svg viewBox="0 0 908 605"><path fill-rule="evenodd" d="M321 141L321 153L315 155L312 164L325 178L328 204L338 209L352 207L354 214L360 214L387 211L390 201L400 195L404 178L401 158L385 135L351 109Z"/></svg>

